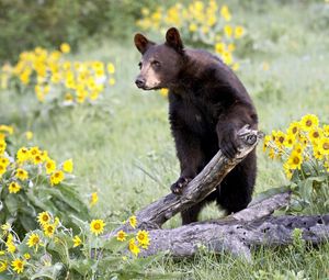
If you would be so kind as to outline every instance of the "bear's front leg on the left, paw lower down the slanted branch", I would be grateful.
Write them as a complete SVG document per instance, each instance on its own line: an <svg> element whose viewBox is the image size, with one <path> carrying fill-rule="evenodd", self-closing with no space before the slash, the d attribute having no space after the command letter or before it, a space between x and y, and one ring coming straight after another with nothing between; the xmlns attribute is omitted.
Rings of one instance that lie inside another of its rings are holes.
<svg viewBox="0 0 329 280"><path fill-rule="evenodd" d="M205 157L201 149L201 141L196 135L182 128L172 128L172 134L175 142L177 156L180 160L181 176L170 189L173 193L181 194L188 183L204 167Z"/></svg>

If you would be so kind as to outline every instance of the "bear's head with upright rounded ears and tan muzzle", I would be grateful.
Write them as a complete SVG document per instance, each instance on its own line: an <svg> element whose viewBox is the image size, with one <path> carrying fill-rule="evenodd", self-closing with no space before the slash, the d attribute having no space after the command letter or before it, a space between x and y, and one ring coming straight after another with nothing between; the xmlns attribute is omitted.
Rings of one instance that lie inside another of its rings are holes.
<svg viewBox="0 0 329 280"><path fill-rule="evenodd" d="M175 27L169 29L166 42L160 45L139 33L135 35L134 42L141 54L136 86L151 90L174 85L184 61L184 47L179 31Z"/></svg>

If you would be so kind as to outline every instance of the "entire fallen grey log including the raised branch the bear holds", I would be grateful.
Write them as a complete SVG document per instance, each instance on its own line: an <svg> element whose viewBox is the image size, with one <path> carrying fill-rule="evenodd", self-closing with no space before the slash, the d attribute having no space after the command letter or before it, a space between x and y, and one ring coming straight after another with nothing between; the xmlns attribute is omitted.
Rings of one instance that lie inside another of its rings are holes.
<svg viewBox="0 0 329 280"><path fill-rule="evenodd" d="M161 225L177 213L206 198L225 176L239 164L258 144L262 133L243 127L238 133L241 141L239 153L227 159L219 150L208 165L186 186L181 195L168 194L136 213L138 221L134 229L127 223L104 237L118 231L136 232L148 229L150 245L143 256L167 251L173 257L194 255L201 247L215 253L230 254L251 260L252 246L279 246L293 243L293 231L300 228L302 238L320 244L329 238L329 214L311 216L272 216L277 209L290 203L291 193L281 192L222 220L193 223L172 229Z"/></svg>

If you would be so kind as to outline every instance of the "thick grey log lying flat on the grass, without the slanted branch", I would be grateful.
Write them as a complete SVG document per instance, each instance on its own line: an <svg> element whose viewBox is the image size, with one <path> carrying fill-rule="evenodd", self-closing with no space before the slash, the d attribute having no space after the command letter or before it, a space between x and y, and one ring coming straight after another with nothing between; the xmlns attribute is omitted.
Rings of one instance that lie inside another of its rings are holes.
<svg viewBox="0 0 329 280"><path fill-rule="evenodd" d="M167 251L173 257L186 257L203 247L215 253L228 251L250 261L250 247L291 244L294 228L300 228L303 239L311 244L328 242L329 215L271 215L288 200L287 192L281 193L223 220L150 231L151 243L143 255Z"/></svg>

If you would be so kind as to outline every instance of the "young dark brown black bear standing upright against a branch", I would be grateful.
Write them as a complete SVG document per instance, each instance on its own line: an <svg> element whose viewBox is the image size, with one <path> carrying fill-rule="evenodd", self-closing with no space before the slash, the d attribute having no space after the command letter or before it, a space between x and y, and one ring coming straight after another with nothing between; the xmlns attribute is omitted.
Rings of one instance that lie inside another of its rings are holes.
<svg viewBox="0 0 329 280"><path fill-rule="evenodd" d="M156 44L135 35L141 53L136 86L144 90L169 89L169 121L180 161L180 178L171 186L180 194L220 149L231 158L239 142L237 131L248 124L257 128L252 101L237 76L217 56L184 48L177 29L167 31L166 42ZM228 214L245 209L256 181L256 152L237 165L204 201L182 212L183 224L197 221L205 203L216 200Z"/></svg>

